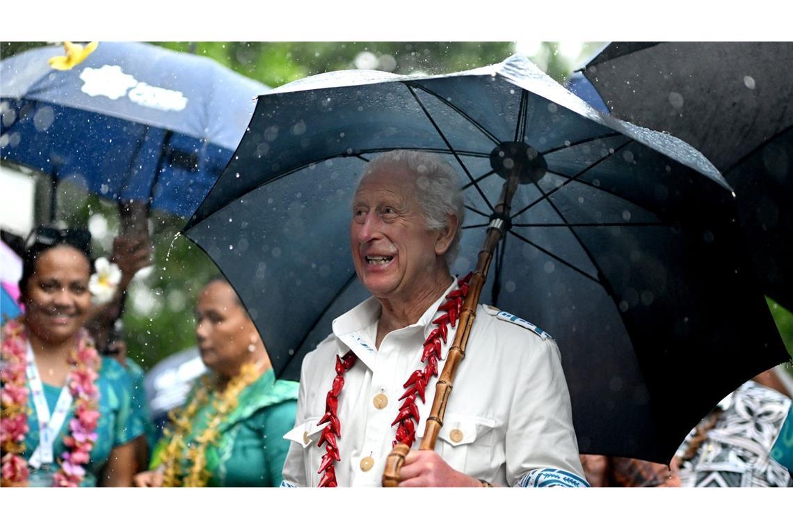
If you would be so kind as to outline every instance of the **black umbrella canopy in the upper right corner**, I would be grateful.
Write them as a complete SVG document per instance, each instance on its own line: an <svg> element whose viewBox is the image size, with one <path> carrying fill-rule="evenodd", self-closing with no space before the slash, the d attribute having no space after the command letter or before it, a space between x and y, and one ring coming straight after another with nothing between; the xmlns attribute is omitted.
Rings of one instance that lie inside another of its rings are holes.
<svg viewBox="0 0 793 529"><path fill-rule="evenodd" d="M790 42L615 42L582 69L585 79L573 81L592 105L605 103L612 116L669 132L711 160L737 194L741 229L765 293L788 309L791 63Z"/></svg>

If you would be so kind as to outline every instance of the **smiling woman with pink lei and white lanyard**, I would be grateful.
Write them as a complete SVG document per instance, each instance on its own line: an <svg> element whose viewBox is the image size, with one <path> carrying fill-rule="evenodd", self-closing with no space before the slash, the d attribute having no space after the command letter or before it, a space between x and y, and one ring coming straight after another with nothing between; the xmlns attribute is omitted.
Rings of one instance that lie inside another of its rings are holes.
<svg viewBox="0 0 793 529"><path fill-rule="evenodd" d="M25 242L24 315L2 328L2 486L128 486L131 379L98 355L91 310L90 233L40 226Z"/></svg>

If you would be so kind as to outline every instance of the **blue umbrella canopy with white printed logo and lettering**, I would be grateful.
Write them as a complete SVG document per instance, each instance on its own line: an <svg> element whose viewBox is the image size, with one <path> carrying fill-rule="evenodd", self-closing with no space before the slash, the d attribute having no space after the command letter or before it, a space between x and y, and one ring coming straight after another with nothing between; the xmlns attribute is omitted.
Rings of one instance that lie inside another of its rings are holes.
<svg viewBox="0 0 793 529"><path fill-rule="evenodd" d="M0 62L3 162L81 182L114 201L190 217L223 171L268 87L212 59L102 42L56 71L63 48Z"/></svg>

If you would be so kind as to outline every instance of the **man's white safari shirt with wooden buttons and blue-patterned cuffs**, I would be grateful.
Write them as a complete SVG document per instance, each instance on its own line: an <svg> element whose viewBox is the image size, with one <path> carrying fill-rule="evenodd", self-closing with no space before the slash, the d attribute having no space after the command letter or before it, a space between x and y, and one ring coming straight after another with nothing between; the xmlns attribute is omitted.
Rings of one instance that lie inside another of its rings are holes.
<svg viewBox="0 0 793 529"><path fill-rule="evenodd" d="M456 288L452 283L446 293ZM406 328L390 332L374 346L381 307L374 297L333 321L333 333L303 361L295 427L286 457L284 486L316 486L325 447L316 443L324 426L325 398L335 377L336 355L353 351L358 362L344 374L339 397L341 461L339 486L380 486L391 451L409 375L423 368L421 353L436 327L446 293ZM455 470L510 486L588 486L578 458L570 397L559 349L543 332L505 312L479 305L458 366L435 451ZM514 320L514 321L510 321ZM515 323L515 321L517 323ZM441 372L456 328L442 349ZM417 449L435 397L435 382L419 398Z"/></svg>

